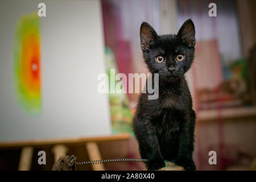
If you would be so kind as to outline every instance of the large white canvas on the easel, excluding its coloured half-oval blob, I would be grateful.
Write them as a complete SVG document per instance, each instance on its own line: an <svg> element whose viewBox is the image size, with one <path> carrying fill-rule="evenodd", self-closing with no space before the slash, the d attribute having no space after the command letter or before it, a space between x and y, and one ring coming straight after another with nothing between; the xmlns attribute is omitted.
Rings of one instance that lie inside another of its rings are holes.
<svg viewBox="0 0 256 182"><path fill-rule="evenodd" d="M97 92L97 76L105 72L100 1L43 1L42 112L30 116L16 102L15 26L40 2L0 2L0 142L110 135L108 96Z"/></svg>

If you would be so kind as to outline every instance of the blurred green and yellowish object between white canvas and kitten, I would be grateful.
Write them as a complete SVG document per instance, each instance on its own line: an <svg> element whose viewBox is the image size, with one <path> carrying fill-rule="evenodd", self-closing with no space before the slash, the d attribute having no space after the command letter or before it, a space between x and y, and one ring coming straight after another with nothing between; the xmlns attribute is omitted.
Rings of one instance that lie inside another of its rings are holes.
<svg viewBox="0 0 256 182"><path fill-rule="evenodd" d="M129 108L129 100L126 93L110 93L110 89L115 89L115 85L119 80L115 80L114 85L110 85L110 69L115 69L115 76L118 74L118 68L115 64L115 57L112 50L108 47L105 48L105 62L106 73L109 77L109 102L110 102L110 115L112 122L112 133L132 133L131 122L133 115ZM113 79L113 78L112 78ZM111 88L110 86L114 87ZM121 88L126 89L126 88ZM116 91L116 90L115 90Z"/></svg>

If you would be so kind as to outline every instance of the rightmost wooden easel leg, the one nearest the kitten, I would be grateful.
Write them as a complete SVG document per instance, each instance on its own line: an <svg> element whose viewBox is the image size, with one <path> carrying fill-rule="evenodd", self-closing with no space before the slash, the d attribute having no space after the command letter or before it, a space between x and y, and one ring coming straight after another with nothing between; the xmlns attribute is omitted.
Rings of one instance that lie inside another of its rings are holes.
<svg viewBox="0 0 256 182"><path fill-rule="evenodd" d="M88 151L90 160L101 160L101 153L98 148L98 144L96 142L88 142L85 144L86 149ZM92 168L94 171L104 171L104 164L92 164Z"/></svg>

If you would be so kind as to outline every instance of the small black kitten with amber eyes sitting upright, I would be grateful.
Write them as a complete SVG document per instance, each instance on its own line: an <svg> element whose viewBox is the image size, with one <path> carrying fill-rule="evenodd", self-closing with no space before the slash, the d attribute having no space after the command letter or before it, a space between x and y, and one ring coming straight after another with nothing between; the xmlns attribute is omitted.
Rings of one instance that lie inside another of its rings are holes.
<svg viewBox="0 0 256 182"><path fill-rule="evenodd" d="M151 73L159 74L159 97L141 94L133 129L148 169L159 169L169 160L186 170L195 170L192 159L195 111L184 73L195 52L195 27L191 19L177 35L158 36L146 22L141 25L141 48ZM154 80L153 80L154 81ZM157 85L156 85L157 84Z"/></svg>

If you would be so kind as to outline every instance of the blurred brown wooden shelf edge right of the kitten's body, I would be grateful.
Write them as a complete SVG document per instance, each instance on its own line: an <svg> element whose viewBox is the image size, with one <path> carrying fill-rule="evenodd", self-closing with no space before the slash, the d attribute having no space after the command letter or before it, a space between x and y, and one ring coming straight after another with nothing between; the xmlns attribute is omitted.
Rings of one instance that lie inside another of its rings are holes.
<svg viewBox="0 0 256 182"><path fill-rule="evenodd" d="M197 120L214 120L218 119L231 119L231 118L242 118L242 117L253 117L256 116L256 107L233 107L224 109L212 109L212 110L201 110L197 111Z"/></svg>

